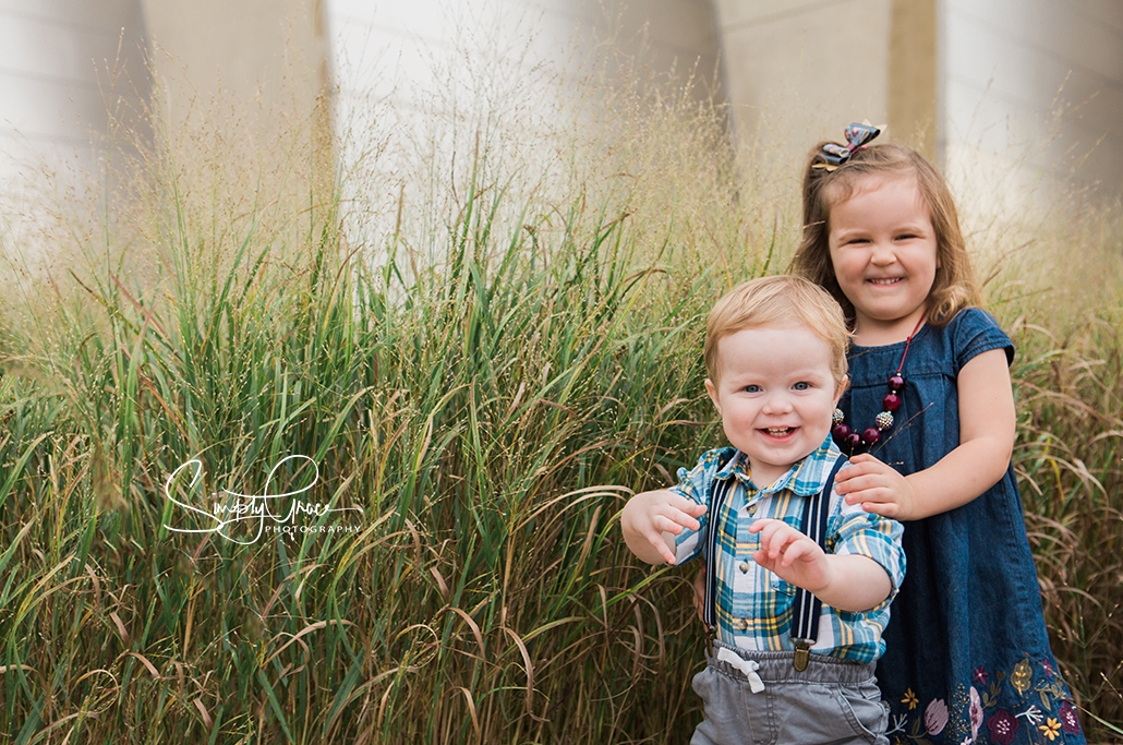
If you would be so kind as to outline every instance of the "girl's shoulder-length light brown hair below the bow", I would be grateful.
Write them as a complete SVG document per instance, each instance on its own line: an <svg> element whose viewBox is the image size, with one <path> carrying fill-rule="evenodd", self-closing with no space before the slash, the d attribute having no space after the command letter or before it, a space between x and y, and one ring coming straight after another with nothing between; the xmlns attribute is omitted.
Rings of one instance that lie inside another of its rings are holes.
<svg viewBox="0 0 1123 745"><path fill-rule="evenodd" d="M914 178L916 191L928 207L935 231L938 267L932 289L928 293L928 321L942 326L964 308L982 306L975 272L964 234L959 229L959 215L951 190L940 172L929 161L901 145L869 145L858 148L850 160L834 169L815 167L825 163L823 146L819 143L811 151L803 174L803 239L792 260L789 271L822 287L842 306L846 317L853 319L853 305L839 288L831 263L830 216L831 208L853 197L858 180L866 175Z"/></svg>

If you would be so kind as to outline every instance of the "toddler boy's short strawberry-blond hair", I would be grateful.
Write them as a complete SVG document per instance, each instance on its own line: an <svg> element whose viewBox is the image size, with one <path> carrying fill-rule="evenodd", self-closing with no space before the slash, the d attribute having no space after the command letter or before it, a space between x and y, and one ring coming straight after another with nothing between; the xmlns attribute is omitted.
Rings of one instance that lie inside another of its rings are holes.
<svg viewBox="0 0 1123 745"><path fill-rule="evenodd" d="M850 333L842 309L822 288L789 274L743 282L714 305L706 319L702 351L710 380L716 383L721 373L718 342L745 329L764 327L805 328L821 338L830 351L837 391L846 390Z"/></svg>

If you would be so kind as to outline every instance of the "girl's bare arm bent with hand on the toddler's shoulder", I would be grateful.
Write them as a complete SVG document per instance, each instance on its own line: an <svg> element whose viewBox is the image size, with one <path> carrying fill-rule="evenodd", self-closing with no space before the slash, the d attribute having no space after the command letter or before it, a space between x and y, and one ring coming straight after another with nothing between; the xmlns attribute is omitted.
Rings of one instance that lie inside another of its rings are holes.
<svg viewBox="0 0 1123 745"><path fill-rule="evenodd" d="M959 446L923 471L902 476L873 455L856 455L836 478L847 503L897 520L919 520L971 501L1002 479L1014 449L1014 392L1004 349L959 371Z"/></svg>

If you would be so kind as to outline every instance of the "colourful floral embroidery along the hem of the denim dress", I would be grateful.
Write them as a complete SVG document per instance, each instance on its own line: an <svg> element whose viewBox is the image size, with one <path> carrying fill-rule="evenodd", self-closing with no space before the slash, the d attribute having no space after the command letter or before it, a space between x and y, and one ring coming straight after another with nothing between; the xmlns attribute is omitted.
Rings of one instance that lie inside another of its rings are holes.
<svg viewBox="0 0 1123 745"><path fill-rule="evenodd" d="M905 714L893 717L886 733L894 745L932 745L933 742L971 745L990 742L1057 743L1079 735L1080 720L1068 690L1048 660L1022 658L1012 670L988 672L979 665L971 674L977 685L956 687L951 703L932 699L921 711L910 688L901 699ZM998 706L1005 690L1006 701ZM1010 706L1011 692L1016 693ZM911 714L915 711L915 714ZM932 739L929 739L932 738Z"/></svg>

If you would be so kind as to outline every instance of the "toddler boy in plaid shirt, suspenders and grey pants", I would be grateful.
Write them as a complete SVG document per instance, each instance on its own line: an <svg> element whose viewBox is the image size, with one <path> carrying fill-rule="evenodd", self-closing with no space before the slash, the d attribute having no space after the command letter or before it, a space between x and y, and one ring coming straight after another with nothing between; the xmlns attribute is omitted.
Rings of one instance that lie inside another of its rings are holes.
<svg viewBox="0 0 1123 745"><path fill-rule="evenodd" d="M693 681L705 720L692 744L888 743L874 665L905 557L898 523L830 485L847 465L830 429L848 343L838 303L805 280L734 288L710 311L704 347L732 447L624 507L639 558L707 557L715 638Z"/></svg>

